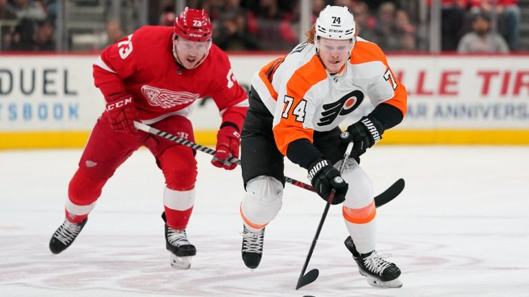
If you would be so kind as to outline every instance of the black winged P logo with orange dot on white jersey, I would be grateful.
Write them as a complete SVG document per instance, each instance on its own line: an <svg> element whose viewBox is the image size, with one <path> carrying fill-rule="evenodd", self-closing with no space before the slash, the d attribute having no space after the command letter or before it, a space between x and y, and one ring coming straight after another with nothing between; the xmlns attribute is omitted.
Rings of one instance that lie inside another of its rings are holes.
<svg viewBox="0 0 529 297"><path fill-rule="evenodd" d="M334 122L338 115L348 115L353 112L364 100L364 93L360 90L352 91L346 94L338 101L323 104L322 118L318 122L318 126L326 126Z"/></svg>

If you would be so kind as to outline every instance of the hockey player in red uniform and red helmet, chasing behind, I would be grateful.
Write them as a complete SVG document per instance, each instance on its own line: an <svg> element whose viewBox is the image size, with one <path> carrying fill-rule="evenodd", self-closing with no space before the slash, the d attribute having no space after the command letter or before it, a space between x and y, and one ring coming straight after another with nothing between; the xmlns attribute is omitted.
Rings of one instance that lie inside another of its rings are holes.
<svg viewBox="0 0 529 297"><path fill-rule="evenodd" d="M195 199L195 151L136 131L134 121L194 141L187 118L191 104L211 96L222 117L211 162L228 170L235 168L227 158L239 155L247 94L235 80L227 55L212 44L211 35L207 13L185 8L174 27L145 26L101 53L93 67L94 83L107 101L106 110L70 181L65 221L50 241L54 254L68 248L81 232L116 168L146 146L165 177L166 248L174 267L189 268L196 254L185 232Z"/></svg>

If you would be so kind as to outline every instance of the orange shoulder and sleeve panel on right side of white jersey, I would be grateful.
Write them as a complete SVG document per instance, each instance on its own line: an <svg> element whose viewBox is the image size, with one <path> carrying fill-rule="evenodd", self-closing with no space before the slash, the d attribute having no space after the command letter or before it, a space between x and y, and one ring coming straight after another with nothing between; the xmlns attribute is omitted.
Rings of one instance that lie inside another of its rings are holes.
<svg viewBox="0 0 529 297"><path fill-rule="evenodd" d="M380 47L375 43L370 43L367 41L357 42L355 47L353 48L353 52L351 52L351 59L349 60L349 62L355 65L371 61L381 61L382 63L384 63L384 65L386 65L386 69L388 69L391 74L390 76L386 77L386 80L388 81L388 84L390 84L391 87L393 87L393 89L395 90L395 96L393 96L393 98L389 100L386 100L386 102L384 103L388 103L393 105L394 107L397 107L397 109L400 109L400 111L402 111L402 115L406 115L406 112L408 111L408 96L406 94L406 87L404 87L404 85L402 85L402 83L397 80L397 77L389 68L388 61L386 59L386 55L384 55L384 52L382 52L382 50L380 50Z"/></svg>

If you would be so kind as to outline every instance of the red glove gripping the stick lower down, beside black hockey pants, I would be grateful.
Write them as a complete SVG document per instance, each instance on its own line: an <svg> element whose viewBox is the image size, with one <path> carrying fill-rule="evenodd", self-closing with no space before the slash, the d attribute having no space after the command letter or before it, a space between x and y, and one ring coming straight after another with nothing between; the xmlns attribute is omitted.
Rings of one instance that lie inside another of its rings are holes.
<svg viewBox="0 0 529 297"><path fill-rule="evenodd" d="M234 126L224 126L217 133L216 152L211 164L227 170L234 169L237 164L228 161L229 157L239 157L240 133Z"/></svg>

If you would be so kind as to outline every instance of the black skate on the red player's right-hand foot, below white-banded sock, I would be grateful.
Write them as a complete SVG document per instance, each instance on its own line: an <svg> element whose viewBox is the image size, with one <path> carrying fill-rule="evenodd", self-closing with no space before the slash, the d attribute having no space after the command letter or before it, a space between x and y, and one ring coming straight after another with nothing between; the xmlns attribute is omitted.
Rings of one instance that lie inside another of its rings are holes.
<svg viewBox="0 0 529 297"><path fill-rule="evenodd" d="M165 212L162 214L165 220ZM191 256L196 255L196 248L187 240L185 230L175 230L169 228L165 223L165 248L171 253L169 261L171 266L179 269L191 267Z"/></svg>

